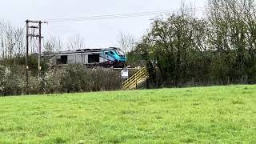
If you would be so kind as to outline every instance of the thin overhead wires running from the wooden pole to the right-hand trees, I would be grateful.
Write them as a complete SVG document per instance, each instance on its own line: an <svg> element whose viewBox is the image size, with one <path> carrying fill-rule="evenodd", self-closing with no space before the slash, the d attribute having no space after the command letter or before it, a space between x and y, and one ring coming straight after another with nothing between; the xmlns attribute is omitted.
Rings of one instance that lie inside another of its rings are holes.
<svg viewBox="0 0 256 144"><path fill-rule="evenodd" d="M186 8L187 11L201 11L205 10L206 7L194 7ZM95 15L95 16L86 16L86 17L74 17L74 18L53 18L46 19L46 22L79 22L79 21L95 21L95 20L106 20L106 19L116 19L116 18L136 18L136 17L145 17L145 16L156 16L159 14L172 14L178 12L179 10L160 10L160 11L148 11L140 13L129 13L129 14L108 14L108 15Z"/></svg>

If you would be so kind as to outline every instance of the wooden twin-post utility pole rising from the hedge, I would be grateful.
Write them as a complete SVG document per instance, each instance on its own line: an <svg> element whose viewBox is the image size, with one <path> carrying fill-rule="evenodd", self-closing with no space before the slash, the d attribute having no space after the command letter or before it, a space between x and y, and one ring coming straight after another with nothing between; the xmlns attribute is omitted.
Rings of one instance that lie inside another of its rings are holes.
<svg viewBox="0 0 256 144"><path fill-rule="evenodd" d="M38 26L30 25L30 23L36 23ZM42 21L31 21L26 20L26 92L28 92L29 86L29 66L28 66L28 56L29 56L29 38L38 38L38 79L41 77L41 48L42 48ZM38 34L30 34L30 29L38 29Z"/></svg>

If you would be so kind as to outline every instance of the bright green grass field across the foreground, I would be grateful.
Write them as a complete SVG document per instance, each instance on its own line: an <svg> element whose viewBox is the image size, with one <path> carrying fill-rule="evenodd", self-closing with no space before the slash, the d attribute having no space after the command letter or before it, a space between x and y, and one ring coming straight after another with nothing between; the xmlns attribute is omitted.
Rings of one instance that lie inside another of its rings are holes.
<svg viewBox="0 0 256 144"><path fill-rule="evenodd" d="M0 143L256 143L256 86L0 98Z"/></svg>

